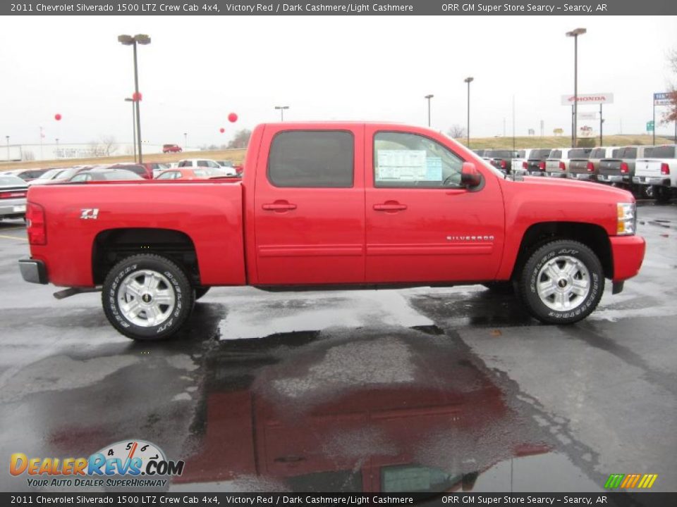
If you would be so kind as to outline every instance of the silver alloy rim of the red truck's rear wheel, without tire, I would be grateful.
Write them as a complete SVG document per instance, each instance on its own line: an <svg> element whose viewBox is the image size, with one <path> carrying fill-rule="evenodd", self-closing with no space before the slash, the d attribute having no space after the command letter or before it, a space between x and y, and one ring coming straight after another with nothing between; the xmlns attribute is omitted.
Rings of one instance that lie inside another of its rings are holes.
<svg viewBox="0 0 677 507"><path fill-rule="evenodd" d="M130 273L118 289L118 305L124 318L140 327L164 323L176 306L174 289L167 278L152 270Z"/></svg>

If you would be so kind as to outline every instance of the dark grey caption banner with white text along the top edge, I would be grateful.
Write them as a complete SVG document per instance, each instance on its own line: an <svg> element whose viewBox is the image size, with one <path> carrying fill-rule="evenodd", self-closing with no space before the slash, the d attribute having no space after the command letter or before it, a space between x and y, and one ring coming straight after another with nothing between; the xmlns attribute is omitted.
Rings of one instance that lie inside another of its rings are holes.
<svg viewBox="0 0 677 507"><path fill-rule="evenodd" d="M674 0L27 0L2 15L676 15Z"/></svg>

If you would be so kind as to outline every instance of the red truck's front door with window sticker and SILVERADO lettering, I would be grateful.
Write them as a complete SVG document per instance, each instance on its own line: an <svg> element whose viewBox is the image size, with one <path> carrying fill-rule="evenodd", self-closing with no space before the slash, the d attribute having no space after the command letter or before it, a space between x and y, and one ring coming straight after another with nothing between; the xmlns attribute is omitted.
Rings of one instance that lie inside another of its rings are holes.
<svg viewBox="0 0 677 507"><path fill-rule="evenodd" d="M505 239L499 176L477 161L482 184L463 187L470 154L402 129L365 129L367 282L492 280Z"/></svg>

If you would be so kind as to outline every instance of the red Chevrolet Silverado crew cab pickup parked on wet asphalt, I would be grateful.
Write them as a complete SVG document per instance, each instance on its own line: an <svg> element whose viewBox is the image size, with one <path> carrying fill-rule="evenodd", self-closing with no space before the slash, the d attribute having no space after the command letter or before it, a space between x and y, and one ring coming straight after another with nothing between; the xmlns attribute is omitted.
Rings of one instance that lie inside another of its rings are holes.
<svg viewBox="0 0 677 507"><path fill-rule="evenodd" d="M621 189L514 179L452 139L382 123L256 127L242 180L30 187L28 282L102 289L133 339L175 333L216 285L514 287L575 323L637 275L645 242Z"/></svg>

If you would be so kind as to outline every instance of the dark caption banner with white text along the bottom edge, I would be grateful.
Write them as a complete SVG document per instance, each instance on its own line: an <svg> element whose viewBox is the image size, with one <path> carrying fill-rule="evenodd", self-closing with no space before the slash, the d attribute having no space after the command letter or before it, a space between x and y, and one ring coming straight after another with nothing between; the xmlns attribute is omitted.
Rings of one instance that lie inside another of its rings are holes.
<svg viewBox="0 0 677 507"><path fill-rule="evenodd" d="M674 493L0 493L0 505L113 506L618 506L677 505Z"/></svg>

